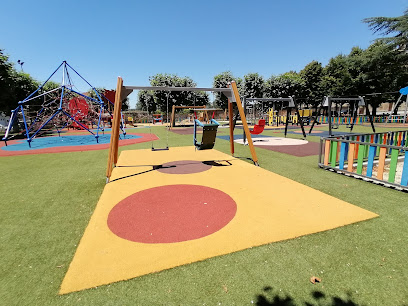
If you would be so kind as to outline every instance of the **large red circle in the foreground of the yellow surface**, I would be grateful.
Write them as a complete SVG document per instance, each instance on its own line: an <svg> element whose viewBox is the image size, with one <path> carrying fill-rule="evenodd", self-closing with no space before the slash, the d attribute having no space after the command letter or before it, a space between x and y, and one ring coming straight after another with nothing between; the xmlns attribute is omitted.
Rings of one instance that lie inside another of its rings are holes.
<svg viewBox="0 0 408 306"><path fill-rule="evenodd" d="M109 213L117 236L142 243L172 243L211 235L235 216L235 201L221 190L167 185L132 194Z"/></svg>

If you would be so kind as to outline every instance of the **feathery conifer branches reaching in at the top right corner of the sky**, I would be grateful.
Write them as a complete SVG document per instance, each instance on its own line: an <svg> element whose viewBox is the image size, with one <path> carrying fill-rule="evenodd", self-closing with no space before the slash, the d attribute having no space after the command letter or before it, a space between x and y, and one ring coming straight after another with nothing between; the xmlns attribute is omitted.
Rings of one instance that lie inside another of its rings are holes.
<svg viewBox="0 0 408 306"><path fill-rule="evenodd" d="M393 47L407 51L408 46L408 9L399 17L370 17L363 19L374 33L390 35L391 37L378 38L378 41L390 44Z"/></svg>

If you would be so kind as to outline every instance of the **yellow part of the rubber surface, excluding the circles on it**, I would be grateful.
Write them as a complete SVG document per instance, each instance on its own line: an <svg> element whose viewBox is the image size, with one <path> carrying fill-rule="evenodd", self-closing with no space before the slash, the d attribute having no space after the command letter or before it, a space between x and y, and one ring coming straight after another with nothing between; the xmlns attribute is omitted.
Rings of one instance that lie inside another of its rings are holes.
<svg viewBox="0 0 408 306"><path fill-rule="evenodd" d="M149 165L177 160L229 160L231 166L212 167L194 174L149 171L134 175L151 170ZM106 185L85 230L62 282L60 294L377 216L216 150L195 151L194 147L178 147L156 152L123 151L118 165L137 167L116 167L113 170L111 182ZM110 231L107 218L119 201L141 190L174 184L202 185L227 193L237 204L235 217L214 234L178 243L132 242Z"/></svg>

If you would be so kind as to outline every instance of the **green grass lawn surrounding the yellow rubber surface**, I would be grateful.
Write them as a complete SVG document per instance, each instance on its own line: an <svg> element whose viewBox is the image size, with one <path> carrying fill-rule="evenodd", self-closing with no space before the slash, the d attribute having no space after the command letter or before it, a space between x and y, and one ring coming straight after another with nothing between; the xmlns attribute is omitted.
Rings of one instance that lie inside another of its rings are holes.
<svg viewBox="0 0 408 306"><path fill-rule="evenodd" d="M192 145L192 135L152 129L161 138L156 147L165 146L167 136L171 146ZM356 126L354 131L371 129ZM228 153L229 142L219 139L215 148ZM319 169L317 156L261 148L257 153L261 167L380 217L59 296L104 188L108 151L1 157L0 304L408 305L407 194ZM240 145L236 154L250 157L248 147ZM312 276L322 282L312 284Z"/></svg>

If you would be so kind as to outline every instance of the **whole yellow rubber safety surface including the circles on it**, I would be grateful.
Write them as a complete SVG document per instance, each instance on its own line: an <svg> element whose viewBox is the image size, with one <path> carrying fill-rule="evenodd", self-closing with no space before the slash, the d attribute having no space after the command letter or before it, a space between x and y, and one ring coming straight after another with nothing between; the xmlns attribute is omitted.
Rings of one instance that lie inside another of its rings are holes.
<svg viewBox="0 0 408 306"><path fill-rule="evenodd" d="M123 151L60 294L376 216L216 150Z"/></svg>

